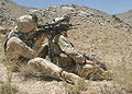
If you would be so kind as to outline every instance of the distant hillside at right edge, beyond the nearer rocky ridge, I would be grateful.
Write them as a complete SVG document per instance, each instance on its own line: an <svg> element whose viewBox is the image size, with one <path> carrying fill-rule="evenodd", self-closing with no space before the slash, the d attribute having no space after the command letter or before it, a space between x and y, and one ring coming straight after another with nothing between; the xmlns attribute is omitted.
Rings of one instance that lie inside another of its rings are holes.
<svg viewBox="0 0 132 94"><path fill-rule="evenodd" d="M132 10L116 15L132 26Z"/></svg>

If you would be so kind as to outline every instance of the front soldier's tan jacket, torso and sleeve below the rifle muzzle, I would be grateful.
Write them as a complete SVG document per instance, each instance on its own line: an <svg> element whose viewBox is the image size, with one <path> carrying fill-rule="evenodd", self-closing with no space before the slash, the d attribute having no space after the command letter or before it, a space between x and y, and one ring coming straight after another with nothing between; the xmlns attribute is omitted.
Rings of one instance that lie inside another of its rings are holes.
<svg viewBox="0 0 132 94"><path fill-rule="evenodd" d="M85 58L63 35L56 35L51 44L53 62L63 69L70 70L76 63L82 63Z"/></svg>

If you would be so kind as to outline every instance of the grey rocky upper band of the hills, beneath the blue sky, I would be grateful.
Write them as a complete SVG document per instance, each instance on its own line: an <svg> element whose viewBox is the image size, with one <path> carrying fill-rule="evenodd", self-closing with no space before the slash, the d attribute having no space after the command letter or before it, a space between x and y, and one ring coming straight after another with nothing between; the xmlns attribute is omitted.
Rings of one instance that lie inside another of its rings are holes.
<svg viewBox="0 0 132 94"><path fill-rule="evenodd" d="M13 26L18 16L31 12L34 12L40 17L40 22L43 24L52 22L54 17L68 14L72 17L72 23L94 23L102 26L109 25L116 28L131 31L131 26L118 19L116 15L110 15L96 9L77 7L74 4L56 5L45 9L32 9L18 5L9 0L0 1L0 25Z"/></svg>

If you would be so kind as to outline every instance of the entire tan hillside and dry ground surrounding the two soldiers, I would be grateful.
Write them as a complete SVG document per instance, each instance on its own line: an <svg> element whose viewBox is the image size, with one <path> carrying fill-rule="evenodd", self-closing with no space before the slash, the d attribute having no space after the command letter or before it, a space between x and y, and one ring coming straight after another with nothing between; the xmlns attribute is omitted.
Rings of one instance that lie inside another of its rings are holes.
<svg viewBox="0 0 132 94"><path fill-rule="evenodd" d="M26 70L10 73L3 52L4 34L0 34L0 94L132 94L132 34L131 26L102 11L75 4L32 9L0 0L0 26L13 27L16 17L34 13L40 24L51 23L65 14L75 28L68 31L68 39L81 52L92 55L113 71L111 81L88 81L73 85L47 78L24 78ZM6 31L7 32L7 31Z"/></svg>

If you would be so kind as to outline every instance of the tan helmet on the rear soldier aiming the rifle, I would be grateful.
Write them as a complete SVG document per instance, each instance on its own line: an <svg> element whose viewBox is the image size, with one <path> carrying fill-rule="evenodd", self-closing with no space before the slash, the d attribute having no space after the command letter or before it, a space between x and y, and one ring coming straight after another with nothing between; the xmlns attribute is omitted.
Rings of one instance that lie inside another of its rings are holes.
<svg viewBox="0 0 132 94"><path fill-rule="evenodd" d="M18 19L18 32L29 33L37 26L37 16L34 14L22 15Z"/></svg>

